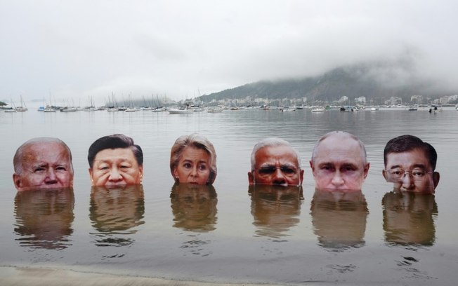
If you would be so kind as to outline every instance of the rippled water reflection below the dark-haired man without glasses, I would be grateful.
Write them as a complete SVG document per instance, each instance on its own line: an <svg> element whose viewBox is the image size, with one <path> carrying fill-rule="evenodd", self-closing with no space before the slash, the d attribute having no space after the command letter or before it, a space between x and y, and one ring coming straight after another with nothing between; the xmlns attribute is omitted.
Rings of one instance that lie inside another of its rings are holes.
<svg viewBox="0 0 458 286"><path fill-rule="evenodd" d="M129 235L144 224L145 199L140 184L109 189L93 186L89 217L96 229L97 246L124 246L133 243Z"/></svg>

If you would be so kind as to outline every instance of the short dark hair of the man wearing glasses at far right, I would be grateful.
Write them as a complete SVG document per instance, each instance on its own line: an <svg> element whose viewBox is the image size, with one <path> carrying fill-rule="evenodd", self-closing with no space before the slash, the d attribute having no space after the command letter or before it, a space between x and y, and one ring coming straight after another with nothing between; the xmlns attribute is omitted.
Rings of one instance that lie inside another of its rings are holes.
<svg viewBox="0 0 458 286"><path fill-rule="evenodd" d="M426 158L428 158L429 164L433 170L436 170L436 162L438 161L438 154L436 149L431 144L424 142L419 137L414 135L401 135L395 137L386 143L384 149L384 165L386 167L386 161L388 154L391 153L402 153L410 152L415 149L424 151Z"/></svg>

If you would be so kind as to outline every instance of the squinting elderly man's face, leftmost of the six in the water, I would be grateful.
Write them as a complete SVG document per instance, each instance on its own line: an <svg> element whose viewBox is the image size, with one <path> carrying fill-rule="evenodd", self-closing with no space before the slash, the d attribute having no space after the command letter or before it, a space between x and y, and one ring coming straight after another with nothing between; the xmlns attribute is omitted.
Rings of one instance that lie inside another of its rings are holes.
<svg viewBox="0 0 458 286"><path fill-rule="evenodd" d="M22 172L13 175L18 191L59 189L73 186L70 154L58 142L42 142L25 148Z"/></svg>

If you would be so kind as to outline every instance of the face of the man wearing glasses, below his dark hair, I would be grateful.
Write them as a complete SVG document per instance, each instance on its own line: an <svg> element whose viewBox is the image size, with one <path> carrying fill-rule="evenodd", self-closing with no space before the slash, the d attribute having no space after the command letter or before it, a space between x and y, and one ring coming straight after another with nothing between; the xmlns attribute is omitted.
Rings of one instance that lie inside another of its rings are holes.
<svg viewBox="0 0 458 286"><path fill-rule="evenodd" d="M388 154L385 169L386 181L393 182L400 191L434 193L439 182L439 173L433 172L426 154L419 149Z"/></svg>

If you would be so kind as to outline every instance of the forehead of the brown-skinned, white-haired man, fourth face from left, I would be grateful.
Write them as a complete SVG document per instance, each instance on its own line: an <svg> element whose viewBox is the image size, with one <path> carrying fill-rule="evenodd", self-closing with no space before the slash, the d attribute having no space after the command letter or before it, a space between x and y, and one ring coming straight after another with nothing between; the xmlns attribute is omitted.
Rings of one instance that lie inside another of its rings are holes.
<svg viewBox="0 0 458 286"><path fill-rule="evenodd" d="M292 163L298 165L296 152L289 146L263 147L256 152L256 165L264 163Z"/></svg>

